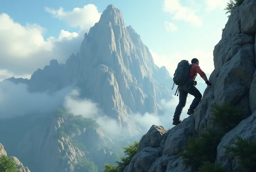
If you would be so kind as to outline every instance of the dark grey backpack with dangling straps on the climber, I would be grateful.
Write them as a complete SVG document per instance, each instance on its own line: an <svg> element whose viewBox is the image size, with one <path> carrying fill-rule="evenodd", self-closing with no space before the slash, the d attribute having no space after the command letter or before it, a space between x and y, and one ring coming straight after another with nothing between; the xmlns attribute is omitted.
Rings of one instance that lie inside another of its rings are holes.
<svg viewBox="0 0 256 172"><path fill-rule="evenodd" d="M188 60L181 60L181 62L178 63L178 66L173 75L173 82L174 82L173 88L174 88L174 84L180 85L182 83L186 83L187 81L189 81L189 73L190 73L190 68L192 66L193 66L193 64L190 64ZM178 90L178 88L177 88L177 90ZM177 91L176 91L176 93L177 93ZM176 95L176 93L175 93L175 95Z"/></svg>

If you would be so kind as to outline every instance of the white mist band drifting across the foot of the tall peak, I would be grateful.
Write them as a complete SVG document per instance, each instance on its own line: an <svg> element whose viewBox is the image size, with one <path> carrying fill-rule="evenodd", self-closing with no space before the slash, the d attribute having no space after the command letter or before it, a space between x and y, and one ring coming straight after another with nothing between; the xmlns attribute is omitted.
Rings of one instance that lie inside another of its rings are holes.
<svg viewBox="0 0 256 172"><path fill-rule="evenodd" d="M194 97L191 95L187 97L187 104L182 112L181 120L189 116L186 113L193 99ZM162 100L161 105L163 106L165 113L161 116L150 113L131 113L129 116L133 118L135 125L141 128L142 135L144 135L153 124L162 125L168 129L174 126L172 125L173 114L178 102L178 96L173 96L171 101ZM119 122L116 119L105 115L97 103L94 103L89 99L79 98L79 90L72 90L69 94L67 94L64 101L64 107L70 113L76 115L81 114L84 117L95 119L96 122L101 125L101 129L104 131L104 133L107 133L107 136L110 136L111 138L118 137L119 139L129 139L128 126L121 129Z"/></svg>

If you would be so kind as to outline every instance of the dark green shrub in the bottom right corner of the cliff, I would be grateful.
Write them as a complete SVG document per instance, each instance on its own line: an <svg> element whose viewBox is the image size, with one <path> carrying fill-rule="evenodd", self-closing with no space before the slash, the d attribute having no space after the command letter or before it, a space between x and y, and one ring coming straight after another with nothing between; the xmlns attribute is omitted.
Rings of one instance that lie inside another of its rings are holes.
<svg viewBox="0 0 256 172"><path fill-rule="evenodd" d="M233 152L234 156L239 157L239 163L246 170L245 172L255 172L256 169L256 141L241 138L240 136L235 136L237 140L234 145L223 146L229 153Z"/></svg>

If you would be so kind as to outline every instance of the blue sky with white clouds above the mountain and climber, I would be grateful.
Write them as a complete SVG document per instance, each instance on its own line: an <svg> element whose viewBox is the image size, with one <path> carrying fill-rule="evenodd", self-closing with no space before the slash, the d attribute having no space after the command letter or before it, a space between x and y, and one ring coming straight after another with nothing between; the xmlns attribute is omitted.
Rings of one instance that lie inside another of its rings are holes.
<svg viewBox="0 0 256 172"><path fill-rule="evenodd" d="M78 39L78 43L74 44L78 45L77 48L65 51L66 54L56 49L61 50L62 48L65 49L65 46L70 47L69 43L77 39L75 33L80 34L81 28L74 26L74 24L72 27L72 23L67 18L54 16L53 13L47 12L45 7L55 10L55 12L60 7L64 11L73 11L74 8L83 9L85 5L90 3L97 7L98 13L102 13L109 4L120 9L126 25L133 26L141 36L142 41L152 51L155 63L158 66L166 65L171 75L178 61L184 58L190 60L194 57L199 58L203 70L211 72L213 70L213 49L221 39L221 30L225 27L228 19L223 10L226 2L227 0L5 1L0 5L0 14L2 15L2 19L0 17L0 31L1 29L4 30L2 34L0 33L0 40L7 40L8 36L13 38L9 39L11 40L9 41L10 44L5 41L5 49L0 52L1 60L6 60L6 63L0 65L0 76L2 77L0 79L10 76L29 78L37 68L48 65L52 58L58 59L59 57L58 61L64 63L71 52L78 51L78 48L80 48L79 41L81 40ZM96 12L94 11L91 14L96 14ZM21 25L20 29L23 29L23 31L18 30L19 27L13 23L8 23L12 25L10 29L4 28L7 24L3 22L7 22L8 19L6 16L3 17L3 13L13 19L14 23ZM75 16L72 18L72 22L77 20L76 25L85 25L83 22L86 23L89 16L83 16L84 14L81 13L80 16ZM94 17L89 18L94 19ZM79 22L83 24L79 24ZM97 17L95 17L95 22L97 22ZM93 26L95 22L86 24L87 26ZM27 23L36 25L25 27ZM87 32L88 28L86 27L84 31ZM69 37L70 42L58 38L61 30L69 33L75 32ZM15 36L15 34L18 35ZM47 39L50 36L52 37L49 41ZM14 44L19 46L14 47ZM62 47L56 48L59 44ZM32 48L33 46L35 47ZM19 51L16 50L17 47ZM7 50L9 51L7 52ZM46 52L42 53L42 50ZM15 51L17 51L16 54ZM24 51L24 53L21 53L21 51Z"/></svg>

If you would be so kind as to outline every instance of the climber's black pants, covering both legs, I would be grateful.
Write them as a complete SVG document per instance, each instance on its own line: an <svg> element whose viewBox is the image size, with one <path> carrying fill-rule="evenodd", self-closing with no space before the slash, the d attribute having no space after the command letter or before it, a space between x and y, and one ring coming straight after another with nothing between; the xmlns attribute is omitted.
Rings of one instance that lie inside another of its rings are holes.
<svg viewBox="0 0 256 172"><path fill-rule="evenodd" d="M186 105L188 93L195 97L189 108L191 110L194 110L202 99L202 94L195 87L194 81L190 80L187 83L179 85L179 104L177 105L174 112L174 120L179 120L181 117L182 109Z"/></svg>

